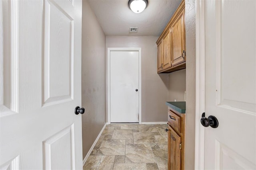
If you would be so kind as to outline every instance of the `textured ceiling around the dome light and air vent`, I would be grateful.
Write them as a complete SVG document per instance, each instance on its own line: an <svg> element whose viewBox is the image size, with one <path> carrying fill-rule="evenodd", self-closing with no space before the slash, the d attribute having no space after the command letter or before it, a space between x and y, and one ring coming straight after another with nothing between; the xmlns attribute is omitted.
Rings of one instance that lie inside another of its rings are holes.
<svg viewBox="0 0 256 170"><path fill-rule="evenodd" d="M181 0L148 0L148 7L136 14L128 0L88 0L105 35L160 36ZM138 33L129 33L138 27Z"/></svg>

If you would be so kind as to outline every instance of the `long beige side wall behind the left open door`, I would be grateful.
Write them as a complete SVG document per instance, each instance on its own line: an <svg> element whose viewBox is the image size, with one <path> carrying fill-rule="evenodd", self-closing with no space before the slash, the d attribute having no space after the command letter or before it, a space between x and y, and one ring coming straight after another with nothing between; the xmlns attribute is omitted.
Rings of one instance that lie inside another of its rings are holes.
<svg viewBox="0 0 256 170"><path fill-rule="evenodd" d="M106 123L106 36L87 0L82 7L83 158Z"/></svg>

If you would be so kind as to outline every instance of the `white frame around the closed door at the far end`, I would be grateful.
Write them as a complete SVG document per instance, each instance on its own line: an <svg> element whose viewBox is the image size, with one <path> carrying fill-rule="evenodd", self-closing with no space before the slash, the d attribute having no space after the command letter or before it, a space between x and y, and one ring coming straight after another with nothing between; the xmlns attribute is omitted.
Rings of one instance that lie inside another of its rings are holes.
<svg viewBox="0 0 256 170"><path fill-rule="evenodd" d="M141 124L141 48L108 48L107 54L107 90L106 90L106 122L110 124L110 51L138 51L139 53L139 124Z"/></svg>

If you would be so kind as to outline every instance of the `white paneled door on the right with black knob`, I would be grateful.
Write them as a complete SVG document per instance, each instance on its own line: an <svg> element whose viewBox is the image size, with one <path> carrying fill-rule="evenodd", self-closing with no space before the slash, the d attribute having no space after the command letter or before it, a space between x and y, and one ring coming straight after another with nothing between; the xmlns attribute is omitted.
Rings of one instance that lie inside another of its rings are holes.
<svg viewBox="0 0 256 170"><path fill-rule="evenodd" d="M205 169L256 169L256 1L205 1Z"/></svg>

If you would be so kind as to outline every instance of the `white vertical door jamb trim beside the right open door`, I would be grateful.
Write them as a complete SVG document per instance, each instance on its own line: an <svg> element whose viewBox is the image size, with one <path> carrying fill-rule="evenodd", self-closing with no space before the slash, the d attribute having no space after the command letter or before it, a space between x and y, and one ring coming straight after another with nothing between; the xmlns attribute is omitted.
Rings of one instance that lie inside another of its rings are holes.
<svg viewBox="0 0 256 170"><path fill-rule="evenodd" d="M204 0L196 0L196 120L195 169L204 169L204 127L200 119L205 111L205 23Z"/></svg>

